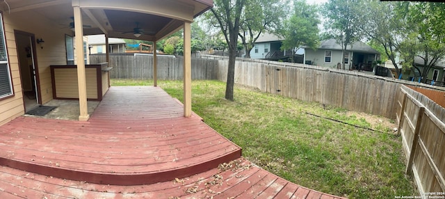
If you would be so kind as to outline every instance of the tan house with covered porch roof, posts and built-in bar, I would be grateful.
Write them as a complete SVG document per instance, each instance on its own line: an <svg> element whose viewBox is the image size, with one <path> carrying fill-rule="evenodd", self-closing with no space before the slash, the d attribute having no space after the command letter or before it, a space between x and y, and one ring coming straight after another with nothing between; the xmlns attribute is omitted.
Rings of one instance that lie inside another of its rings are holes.
<svg viewBox="0 0 445 199"><path fill-rule="evenodd" d="M74 40L74 35L105 33L156 43L184 29L184 39L190 40L191 22L211 6L211 0L0 1L0 125L24 115L29 104L45 104L62 95L79 100L79 120L88 120L87 98L97 100L102 96L92 95L106 93L109 85L100 80L106 81L109 69L86 65L88 42ZM190 52L190 42L184 44ZM186 54L184 88L191 88L190 70L191 56ZM184 93L188 117L191 89Z"/></svg>

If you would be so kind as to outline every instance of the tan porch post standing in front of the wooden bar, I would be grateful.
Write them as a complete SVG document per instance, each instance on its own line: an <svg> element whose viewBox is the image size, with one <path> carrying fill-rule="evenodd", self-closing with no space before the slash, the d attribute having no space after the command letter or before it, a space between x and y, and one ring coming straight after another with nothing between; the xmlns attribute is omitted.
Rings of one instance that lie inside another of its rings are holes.
<svg viewBox="0 0 445 199"><path fill-rule="evenodd" d="M79 6L73 6L74 9L74 31L76 35L76 62L77 62L77 82L79 86L79 120L86 121L90 118L88 115L88 104L86 100L86 74L85 61L83 60L83 23L82 13Z"/></svg>

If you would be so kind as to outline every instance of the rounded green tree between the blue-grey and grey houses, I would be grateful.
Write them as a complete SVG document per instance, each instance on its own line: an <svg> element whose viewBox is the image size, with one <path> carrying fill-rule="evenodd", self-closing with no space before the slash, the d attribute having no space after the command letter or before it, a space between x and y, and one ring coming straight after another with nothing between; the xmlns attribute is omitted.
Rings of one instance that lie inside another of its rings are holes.
<svg viewBox="0 0 445 199"><path fill-rule="evenodd" d="M284 38L282 50L292 49L292 55L300 47L307 46L315 49L318 46L318 8L309 5L305 0L296 0L293 3L294 13L284 22L280 35ZM293 62L293 56L291 58Z"/></svg>

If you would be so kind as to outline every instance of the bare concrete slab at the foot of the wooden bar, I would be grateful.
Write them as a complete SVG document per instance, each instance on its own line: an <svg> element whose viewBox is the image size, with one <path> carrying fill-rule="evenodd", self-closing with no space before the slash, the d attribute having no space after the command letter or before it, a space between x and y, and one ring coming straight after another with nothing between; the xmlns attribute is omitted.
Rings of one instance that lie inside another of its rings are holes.
<svg viewBox="0 0 445 199"><path fill-rule="evenodd" d="M88 101L88 114L92 114L95 111L98 101ZM80 110L79 101L77 100L51 100L44 106L57 106L56 109L47 113L45 116L31 116L25 114L24 116L35 117L35 118L49 118L57 120L79 120Z"/></svg>

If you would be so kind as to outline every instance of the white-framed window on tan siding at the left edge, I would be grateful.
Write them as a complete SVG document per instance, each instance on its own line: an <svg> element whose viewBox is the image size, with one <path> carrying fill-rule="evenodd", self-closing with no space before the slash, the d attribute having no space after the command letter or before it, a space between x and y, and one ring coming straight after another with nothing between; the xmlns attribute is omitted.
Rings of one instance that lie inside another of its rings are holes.
<svg viewBox="0 0 445 199"><path fill-rule="evenodd" d="M13 82L11 81L6 49L5 32L3 31L3 15L0 14L0 98L13 95Z"/></svg>

